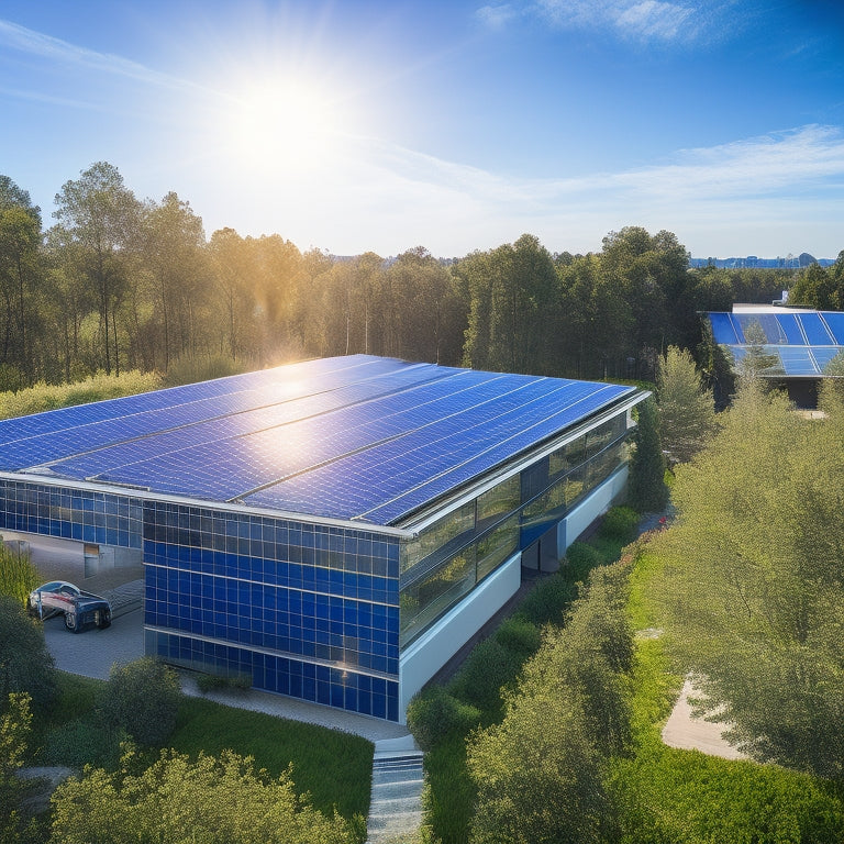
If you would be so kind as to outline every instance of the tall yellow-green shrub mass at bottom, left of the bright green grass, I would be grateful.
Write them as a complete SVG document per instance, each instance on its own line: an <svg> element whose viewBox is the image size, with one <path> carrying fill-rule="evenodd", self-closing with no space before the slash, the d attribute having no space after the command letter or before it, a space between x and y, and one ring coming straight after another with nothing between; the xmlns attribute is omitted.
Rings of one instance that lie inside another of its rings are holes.
<svg viewBox="0 0 844 844"><path fill-rule="evenodd" d="M612 834L602 768L630 742L624 578L619 567L592 571L566 626L548 629L525 665L501 723L469 738L478 788L470 841L597 843Z"/></svg>

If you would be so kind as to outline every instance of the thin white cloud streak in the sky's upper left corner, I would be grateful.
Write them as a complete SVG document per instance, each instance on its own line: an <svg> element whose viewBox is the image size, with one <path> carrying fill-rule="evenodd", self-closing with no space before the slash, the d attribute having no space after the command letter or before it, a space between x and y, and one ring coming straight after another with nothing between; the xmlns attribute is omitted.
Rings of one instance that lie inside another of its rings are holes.
<svg viewBox="0 0 844 844"><path fill-rule="evenodd" d="M152 70L121 56L80 47L10 21L0 20L0 45L41 56L55 64L85 67L99 73L129 77L148 85L175 89L196 87L185 79Z"/></svg>

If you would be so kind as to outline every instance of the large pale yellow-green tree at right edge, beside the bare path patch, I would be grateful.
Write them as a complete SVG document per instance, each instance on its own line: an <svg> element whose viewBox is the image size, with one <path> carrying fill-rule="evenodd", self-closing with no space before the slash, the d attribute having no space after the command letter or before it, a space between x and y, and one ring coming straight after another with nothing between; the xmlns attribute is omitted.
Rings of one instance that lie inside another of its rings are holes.
<svg viewBox="0 0 844 844"><path fill-rule="evenodd" d="M655 545L669 643L703 711L754 758L830 778L844 775L841 432L743 382L678 468L678 518Z"/></svg>

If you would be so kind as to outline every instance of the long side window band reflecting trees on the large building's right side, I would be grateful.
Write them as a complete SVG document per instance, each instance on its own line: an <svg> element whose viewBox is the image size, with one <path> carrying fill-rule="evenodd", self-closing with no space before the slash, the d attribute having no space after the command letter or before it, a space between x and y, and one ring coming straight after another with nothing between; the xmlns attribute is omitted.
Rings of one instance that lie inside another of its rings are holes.
<svg viewBox="0 0 844 844"><path fill-rule="evenodd" d="M402 547L401 646L409 645L517 551L563 519L628 458L626 414L542 457Z"/></svg>

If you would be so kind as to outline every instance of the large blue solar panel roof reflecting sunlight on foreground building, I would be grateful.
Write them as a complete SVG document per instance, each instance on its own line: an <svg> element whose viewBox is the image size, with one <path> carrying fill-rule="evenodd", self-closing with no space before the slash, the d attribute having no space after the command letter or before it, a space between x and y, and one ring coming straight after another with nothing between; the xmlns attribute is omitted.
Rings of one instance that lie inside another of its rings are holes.
<svg viewBox="0 0 844 844"><path fill-rule="evenodd" d="M0 421L0 470L396 524L634 390L326 358Z"/></svg>

